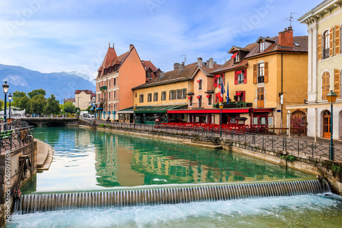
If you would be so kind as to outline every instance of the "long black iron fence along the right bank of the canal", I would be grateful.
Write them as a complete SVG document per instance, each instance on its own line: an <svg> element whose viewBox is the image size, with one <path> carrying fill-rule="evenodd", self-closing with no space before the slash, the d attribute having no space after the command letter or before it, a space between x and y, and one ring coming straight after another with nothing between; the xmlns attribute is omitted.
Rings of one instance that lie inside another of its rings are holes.
<svg viewBox="0 0 342 228"><path fill-rule="evenodd" d="M287 137L238 132L220 128L203 128L194 126L145 125L129 123L112 123L96 119L96 125L103 128L116 128L118 130L149 132L150 134L170 135L183 139L196 139L196 137L220 138L228 143L257 147L260 149L277 150L297 153L298 156L312 156L329 158L329 144L314 143ZM342 160L342 147L334 147L334 160Z"/></svg>

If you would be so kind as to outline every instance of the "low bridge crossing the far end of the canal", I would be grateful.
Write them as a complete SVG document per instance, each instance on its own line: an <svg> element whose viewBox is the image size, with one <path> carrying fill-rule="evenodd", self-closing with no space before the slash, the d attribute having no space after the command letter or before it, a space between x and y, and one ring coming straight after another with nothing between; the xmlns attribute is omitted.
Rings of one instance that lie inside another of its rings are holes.
<svg viewBox="0 0 342 228"><path fill-rule="evenodd" d="M79 126L79 119L76 117L23 117L21 120L31 126Z"/></svg>

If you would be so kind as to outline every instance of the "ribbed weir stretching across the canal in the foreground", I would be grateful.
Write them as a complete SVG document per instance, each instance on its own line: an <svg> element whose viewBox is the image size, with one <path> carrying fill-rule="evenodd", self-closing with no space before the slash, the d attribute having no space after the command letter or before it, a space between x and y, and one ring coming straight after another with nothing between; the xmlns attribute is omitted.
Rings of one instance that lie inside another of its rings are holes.
<svg viewBox="0 0 342 228"><path fill-rule="evenodd" d="M326 192L330 192L330 186L326 180L304 180L85 193L44 193L22 195L21 199L16 201L14 211L18 214L27 214L77 208L111 208L262 197L289 197Z"/></svg>

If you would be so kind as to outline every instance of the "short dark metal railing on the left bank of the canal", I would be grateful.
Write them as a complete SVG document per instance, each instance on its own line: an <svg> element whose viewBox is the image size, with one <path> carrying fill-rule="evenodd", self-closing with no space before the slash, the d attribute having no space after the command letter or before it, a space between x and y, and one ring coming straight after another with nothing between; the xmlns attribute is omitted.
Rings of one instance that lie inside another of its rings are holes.
<svg viewBox="0 0 342 228"><path fill-rule="evenodd" d="M33 135L34 128L32 126L12 128L10 130L4 129L0 132L0 152L3 153L6 150L31 144Z"/></svg>

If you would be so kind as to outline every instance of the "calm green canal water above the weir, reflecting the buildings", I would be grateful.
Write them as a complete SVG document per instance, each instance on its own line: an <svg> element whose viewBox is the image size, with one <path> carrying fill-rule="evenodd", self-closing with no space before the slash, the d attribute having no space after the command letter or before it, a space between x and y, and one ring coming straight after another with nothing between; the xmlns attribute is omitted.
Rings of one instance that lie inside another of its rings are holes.
<svg viewBox="0 0 342 228"><path fill-rule="evenodd" d="M313 178L221 149L129 134L39 127L35 137L55 149L49 171L37 174L38 191Z"/></svg>

